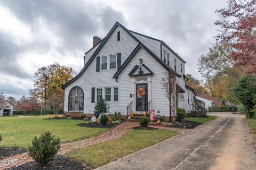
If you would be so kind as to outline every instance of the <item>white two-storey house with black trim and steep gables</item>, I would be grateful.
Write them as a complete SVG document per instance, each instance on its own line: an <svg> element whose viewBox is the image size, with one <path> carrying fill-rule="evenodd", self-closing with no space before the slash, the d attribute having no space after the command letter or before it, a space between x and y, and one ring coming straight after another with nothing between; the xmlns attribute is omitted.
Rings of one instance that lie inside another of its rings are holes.
<svg viewBox="0 0 256 170"><path fill-rule="evenodd" d="M178 107L191 112L195 109L195 93L186 86L185 64L164 41L116 22L105 38L93 37L93 47L85 53L82 71L62 87L64 112L92 116L95 103L102 96L111 113L126 116L131 111L142 114L154 109L170 117L171 108L162 85L168 72L177 77Z"/></svg>

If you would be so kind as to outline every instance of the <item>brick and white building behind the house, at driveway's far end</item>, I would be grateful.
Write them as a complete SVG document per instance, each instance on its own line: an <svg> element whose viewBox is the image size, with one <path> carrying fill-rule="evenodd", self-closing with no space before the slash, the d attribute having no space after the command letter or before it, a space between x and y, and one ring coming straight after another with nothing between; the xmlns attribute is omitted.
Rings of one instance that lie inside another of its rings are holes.
<svg viewBox="0 0 256 170"><path fill-rule="evenodd" d="M221 100L219 100L219 99L217 99L215 97L212 97L210 95L207 95L207 94L205 94L203 92L201 92L200 94L196 95L196 98L204 101L205 108L223 106Z"/></svg>

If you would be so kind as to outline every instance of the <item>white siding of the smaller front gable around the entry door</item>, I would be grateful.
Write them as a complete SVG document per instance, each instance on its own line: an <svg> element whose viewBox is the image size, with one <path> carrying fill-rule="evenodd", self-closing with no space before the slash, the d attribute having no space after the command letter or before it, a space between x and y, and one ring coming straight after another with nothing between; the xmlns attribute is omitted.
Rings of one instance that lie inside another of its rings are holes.
<svg viewBox="0 0 256 170"><path fill-rule="evenodd" d="M169 101L165 95L165 91L162 89L162 78L165 76L166 70L144 49L139 50L139 52L133 57L132 61L119 75L119 111L122 114L126 114L127 105L129 105L132 100L134 100L133 103L136 101L135 84L133 84L133 80L135 78L129 77L128 74L136 64L139 64L140 58L142 58L143 64L146 64L149 69L154 72L154 75L149 76L147 80L149 95L148 101L152 101L152 109L155 109L155 112L160 111L162 115L169 116ZM143 81L139 83L143 83ZM130 97L130 94L134 95L133 98ZM134 108L135 107L133 106L133 110Z"/></svg>

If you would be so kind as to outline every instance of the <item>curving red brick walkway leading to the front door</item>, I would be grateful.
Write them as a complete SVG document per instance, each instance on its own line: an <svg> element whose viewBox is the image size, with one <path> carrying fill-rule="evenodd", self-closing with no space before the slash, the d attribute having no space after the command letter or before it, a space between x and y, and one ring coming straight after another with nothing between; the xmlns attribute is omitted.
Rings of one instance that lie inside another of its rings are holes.
<svg viewBox="0 0 256 170"><path fill-rule="evenodd" d="M83 148L86 146L95 145L97 143L106 142L112 139L121 138L126 132L128 132L130 129L136 126L139 126L139 122L124 122L119 124L115 128L110 129L109 131L102 133L96 137L85 138L82 140L77 140L69 143L63 143L61 144L58 155L65 154L66 152L72 151L77 148ZM31 162L33 160L34 159L28 156L28 152L7 157L5 159L0 160L0 170L19 166Z"/></svg>

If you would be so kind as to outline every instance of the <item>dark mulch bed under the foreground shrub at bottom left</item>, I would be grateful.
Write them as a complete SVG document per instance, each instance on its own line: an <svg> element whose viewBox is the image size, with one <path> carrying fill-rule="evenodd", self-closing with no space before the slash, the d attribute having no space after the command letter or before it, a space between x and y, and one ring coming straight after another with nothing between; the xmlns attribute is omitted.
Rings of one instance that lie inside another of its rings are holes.
<svg viewBox="0 0 256 170"><path fill-rule="evenodd" d="M82 170L82 169L92 169L91 166L82 164L73 159L68 158L67 156L55 156L53 162L49 163L45 167L39 166L35 161L29 162L17 167L11 168L12 170L41 170L41 169L54 169L54 170Z"/></svg>

